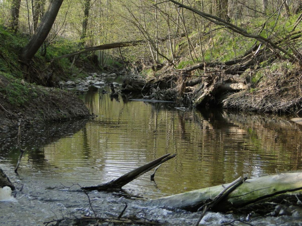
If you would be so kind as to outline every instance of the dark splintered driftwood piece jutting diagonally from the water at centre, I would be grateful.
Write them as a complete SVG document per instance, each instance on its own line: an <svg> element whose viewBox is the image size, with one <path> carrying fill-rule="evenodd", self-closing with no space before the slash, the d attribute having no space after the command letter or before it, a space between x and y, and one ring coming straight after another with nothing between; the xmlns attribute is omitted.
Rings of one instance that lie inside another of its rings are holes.
<svg viewBox="0 0 302 226"><path fill-rule="evenodd" d="M132 180L136 179L142 174L145 174L146 172L152 170L156 166L162 164L165 161L168 161L169 159L175 157L176 154L171 155L167 154L165 156L162 156L160 158L157 158L143 166L140 166L132 171L130 171L127 174L124 174L108 183L100 184L97 186L91 186L91 187L83 187L82 189L88 190L88 191L104 191L104 190L115 190L115 189L121 189L124 185L128 184Z"/></svg>

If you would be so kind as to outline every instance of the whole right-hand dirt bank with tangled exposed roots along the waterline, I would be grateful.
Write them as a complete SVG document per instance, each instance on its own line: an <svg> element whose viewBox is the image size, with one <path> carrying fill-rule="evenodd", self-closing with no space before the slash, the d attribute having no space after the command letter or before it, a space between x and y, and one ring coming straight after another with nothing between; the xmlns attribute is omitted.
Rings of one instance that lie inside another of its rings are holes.
<svg viewBox="0 0 302 226"><path fill-rule="evenodd" d="M145 80L128 78L122 91L137 91L145 99L176 101L187 107L219 106L272 113L299 113L302 109L302 71L297 65L276 62L235 74L219 68L201 71L197 66L163 68L155 78Z"/></svg>

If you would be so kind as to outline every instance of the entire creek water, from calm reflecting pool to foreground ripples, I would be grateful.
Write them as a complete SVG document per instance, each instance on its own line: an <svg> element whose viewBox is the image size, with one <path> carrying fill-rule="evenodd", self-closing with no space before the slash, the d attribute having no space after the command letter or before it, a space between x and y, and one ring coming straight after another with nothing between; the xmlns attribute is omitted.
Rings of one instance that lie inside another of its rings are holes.
<svg viewBox="0 0 302 226"><path fill-rule="evenodd" d="M93 214L79 186L108 182L167 153L177 156L162 164L155 181L147 173L123 191L90 192L94 212L117 216L127 203L126 216L194 225L199 213L151 208L144 200L231 182L242 175L302 170L302 127L287 116L177 109L173 103L111 98L101 89L81 96L98 117L34 127L22 134L26 152L19 174L14 174L19 158L16 133L0 135L0 168L18 188L16 202L0 203L0 225L43 225ZM236 217L208 213L202 223L221 225ZM250 224L300 222L298 215Z"/></svg>

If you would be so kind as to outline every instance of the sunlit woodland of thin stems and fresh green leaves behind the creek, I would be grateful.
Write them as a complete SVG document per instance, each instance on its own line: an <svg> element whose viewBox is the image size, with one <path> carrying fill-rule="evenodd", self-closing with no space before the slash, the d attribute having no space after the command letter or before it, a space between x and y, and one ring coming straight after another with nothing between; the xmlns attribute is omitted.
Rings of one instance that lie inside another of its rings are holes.
<svg viewBox="0 0 302 226"><path fill-rule="evenodd" d="M182 0L182 3L229 21L249 34L274 40L295 29L294 22L302 9L301 0ZM31 36L48 4L49 0L0 0L0 24ZM12 26L12 14L18 14L18 7L19 23ZM64 0L46 42L77 48L135 40L146 42L143 46L121 49L128 62L172 62L176 68L195 62L224 62L244 54L255 44L252 38L225 26L217 27L189 10L159 0ZM97 55L100 65L105 66L109 56L119 57L120 53L113 49L98 51Z"/></svg>

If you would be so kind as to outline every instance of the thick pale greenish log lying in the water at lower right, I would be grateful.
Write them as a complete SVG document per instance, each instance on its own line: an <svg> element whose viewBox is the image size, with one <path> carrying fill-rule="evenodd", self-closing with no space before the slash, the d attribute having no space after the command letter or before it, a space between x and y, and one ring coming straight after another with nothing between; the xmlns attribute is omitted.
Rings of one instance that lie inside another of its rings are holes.
<svg viewBox="0 0 302 226"><path fill-rule="evenodd" d="M158 198L150 202L151 205L163 206L168 209L197 211L198 208L208 203L223 189L222 185L218 185ZM235 191L229 193L213 210L228 211L250 204L278 202L278 200L282 201L284 198L294 198L293 200L296 200L297 203L301 197L302 173L268 175L246 180Z"/></svg>

